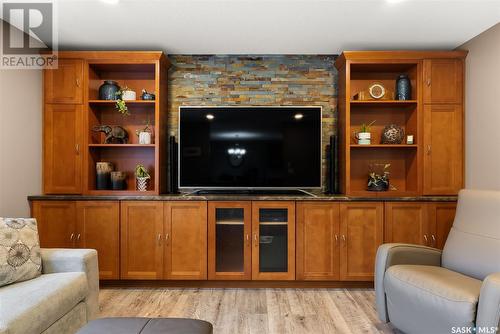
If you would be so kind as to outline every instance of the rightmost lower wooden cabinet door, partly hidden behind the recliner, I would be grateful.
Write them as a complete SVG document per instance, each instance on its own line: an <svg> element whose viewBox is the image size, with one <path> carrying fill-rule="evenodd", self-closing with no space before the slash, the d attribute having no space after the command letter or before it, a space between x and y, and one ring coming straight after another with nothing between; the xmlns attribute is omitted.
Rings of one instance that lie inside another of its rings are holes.
<svg viewBox="0 0 500 334"><path fill-rule="evenodd" d="M432 224L431 246L443 249L455 220L456 203L429 203L429 222Z"/></svg>

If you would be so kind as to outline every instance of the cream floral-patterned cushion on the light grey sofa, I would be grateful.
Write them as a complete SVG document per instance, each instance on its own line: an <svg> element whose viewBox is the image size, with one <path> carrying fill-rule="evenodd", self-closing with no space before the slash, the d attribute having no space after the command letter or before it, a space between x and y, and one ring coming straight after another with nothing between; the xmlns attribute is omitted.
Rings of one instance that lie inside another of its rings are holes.
<svg viewBox="0 0 500 334"><path fill-rule="evenodd" d="M41 273L36 220L0 218L0 287L35 278Z"/></svg>

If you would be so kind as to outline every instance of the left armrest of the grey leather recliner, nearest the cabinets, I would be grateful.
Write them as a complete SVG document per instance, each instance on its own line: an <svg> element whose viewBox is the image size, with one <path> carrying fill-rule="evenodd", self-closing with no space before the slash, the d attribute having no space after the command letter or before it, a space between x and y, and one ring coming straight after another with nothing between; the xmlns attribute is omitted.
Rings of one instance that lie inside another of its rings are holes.
<svg viewBox="0 0 500 334"><path fill-rule="evenodd" d="M378 317L389 322L384 290L384 275L387 268L396 264L441 266L441 250L411 244L383 244L377 250L375 260L375 298Z"/></svg>

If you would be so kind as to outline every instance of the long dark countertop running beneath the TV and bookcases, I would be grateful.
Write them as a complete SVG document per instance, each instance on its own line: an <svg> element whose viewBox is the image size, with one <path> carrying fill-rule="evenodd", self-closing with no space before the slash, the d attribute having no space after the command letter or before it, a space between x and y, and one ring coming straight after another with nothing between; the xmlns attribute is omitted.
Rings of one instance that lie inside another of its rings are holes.
<svg viewBox="0 0 500 334"><path fill-rule="evenodd" d="M337 202L456 202L457 196L412 196L412 197L349 197L344 195L262 195L262 194L169 194L159 196L137 195L33 195L29 201L337 201Z"/></svg>

